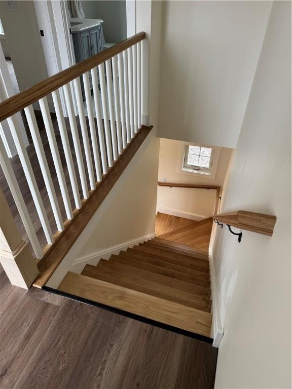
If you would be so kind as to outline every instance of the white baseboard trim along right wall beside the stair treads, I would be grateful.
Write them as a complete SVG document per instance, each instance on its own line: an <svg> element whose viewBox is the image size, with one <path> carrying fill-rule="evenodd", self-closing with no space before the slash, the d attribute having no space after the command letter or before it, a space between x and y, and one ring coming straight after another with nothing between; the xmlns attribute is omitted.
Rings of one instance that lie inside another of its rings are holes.
<svg viewBox="0 0 292 389"><path fill-rule="evenodd" d="M217 293L217 283L215 281L215 269L212 249L209 248L209 263L211 276L211 298L212 298L212 326L211 337L213 338L213 346L219 347L224 335L224 329L220 317L220 306Z"/></svg>

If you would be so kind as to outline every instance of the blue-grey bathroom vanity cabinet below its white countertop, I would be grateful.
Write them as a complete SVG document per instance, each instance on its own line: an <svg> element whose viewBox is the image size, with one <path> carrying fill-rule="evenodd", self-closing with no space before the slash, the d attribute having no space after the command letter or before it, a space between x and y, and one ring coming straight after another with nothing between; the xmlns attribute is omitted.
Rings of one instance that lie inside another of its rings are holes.
<svg viewBox="0 0 292 389"><path fill-rule="evenodd" d="M73 39L76 63L81 62L86 58L91 57L92 55L100 53L103 50L102 25L98 24L97 26L82 31L72 31L72 39ZM81 81L83 100L85 100L82 77L80 77L80 81ZM92 89L92 80L91 80L90 72L89 72L89 83L90 83L90 89Z"/></svg>

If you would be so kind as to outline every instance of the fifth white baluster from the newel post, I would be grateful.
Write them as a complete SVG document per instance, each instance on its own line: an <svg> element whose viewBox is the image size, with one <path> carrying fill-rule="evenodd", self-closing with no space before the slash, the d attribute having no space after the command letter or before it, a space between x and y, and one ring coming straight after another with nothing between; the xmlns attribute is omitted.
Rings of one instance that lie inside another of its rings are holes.
<svg viewBox="0 0 292 389"><path fill-rule="evenodd" d="M80 195L79 195L79 188L78 188L74 163L73 163L73 159L72 159L72 154L71 154L66 124L65 124L64 114L63 114L63 110L62 110L62 106L61 106L59 91L56 90L56 91L52 92L52 96L53 96L53 102L54 102L54 106L55 106L57 122L58 122L61 141L62 141L62 146L64 149L66 164L67 164L67 168L68 168L70 183L71 183L72 192L73 192L73 196L74 196L75 206L77 209L80 209L81 208L81 199L80 199Z"/></svg>

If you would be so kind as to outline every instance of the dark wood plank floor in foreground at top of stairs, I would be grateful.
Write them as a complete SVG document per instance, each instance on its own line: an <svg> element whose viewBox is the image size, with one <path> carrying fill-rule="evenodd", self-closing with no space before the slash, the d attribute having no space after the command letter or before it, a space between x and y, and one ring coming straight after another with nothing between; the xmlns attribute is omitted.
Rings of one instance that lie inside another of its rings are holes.
<svg viewBox="0 0 292 389"><path fill-rule="evenodd" d="M208 343L0 275L1 389L209 389Z"/></svg>

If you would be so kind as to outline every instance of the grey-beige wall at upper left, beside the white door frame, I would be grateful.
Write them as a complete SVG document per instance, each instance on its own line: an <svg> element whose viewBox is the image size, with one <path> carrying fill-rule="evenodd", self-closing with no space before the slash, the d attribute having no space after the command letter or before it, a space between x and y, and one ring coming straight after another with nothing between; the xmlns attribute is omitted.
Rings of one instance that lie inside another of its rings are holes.
<svg viewBox="0 0 292 389"><path fill-rule="evenodd" d="M18 1L16 12L0 2L0 15L20 91L48 77L33 1Z"/></svg>

